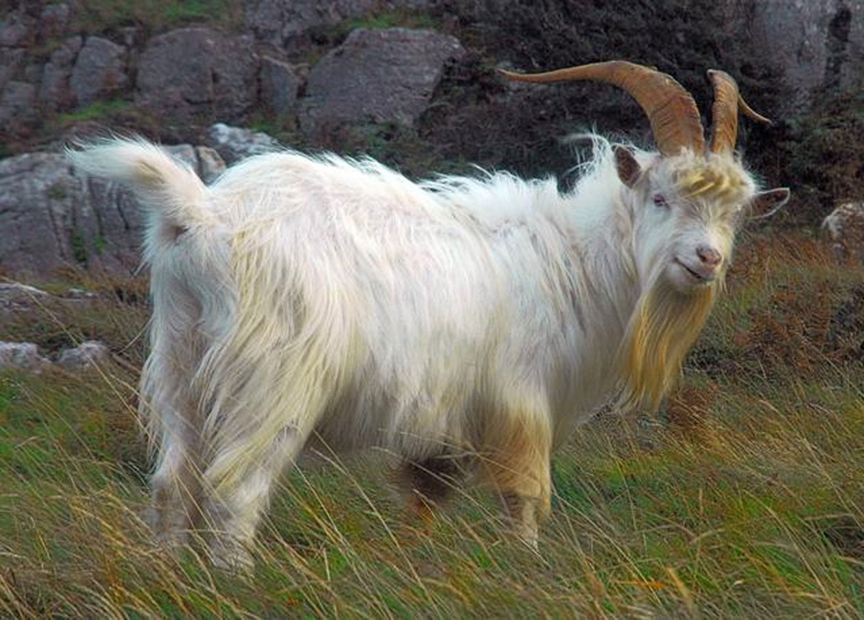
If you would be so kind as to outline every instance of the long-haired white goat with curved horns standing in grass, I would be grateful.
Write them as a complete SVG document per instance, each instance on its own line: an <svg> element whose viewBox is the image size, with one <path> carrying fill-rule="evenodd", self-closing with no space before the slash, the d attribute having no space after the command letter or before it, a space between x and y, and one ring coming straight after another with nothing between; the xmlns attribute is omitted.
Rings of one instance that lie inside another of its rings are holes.
<svg viewBox="0 0 864 620"><path fill-rule="evenodd" d="M148 209L156 529L203 520L246 549L274 479L310 440L403 457L416 507L467 472L532 545L550 454L610 396L658 406L721 287L746 212L776 208L734 157L740 100L696 104L622 61L512 79L625 87L659 153L595 137L575 189L495 174L416 184L372 161L280 152L206 187L143 141L69 153ZM750 112L746 106L745 112Z"/></svg>

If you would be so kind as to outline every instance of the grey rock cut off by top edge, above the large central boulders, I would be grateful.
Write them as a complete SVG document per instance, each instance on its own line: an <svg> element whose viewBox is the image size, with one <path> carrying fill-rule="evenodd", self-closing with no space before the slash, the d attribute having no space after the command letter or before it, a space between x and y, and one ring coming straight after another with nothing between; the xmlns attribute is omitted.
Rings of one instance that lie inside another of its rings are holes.
<svg viewBox="0 0 864 620"><path fill-rule="evenodd" d="M364 16L372 10L421 8L428 0L246 0L243 14L246 29L259 42L276 48L295 51L304 42L309 29L330 26L352 17Z"/></svg>

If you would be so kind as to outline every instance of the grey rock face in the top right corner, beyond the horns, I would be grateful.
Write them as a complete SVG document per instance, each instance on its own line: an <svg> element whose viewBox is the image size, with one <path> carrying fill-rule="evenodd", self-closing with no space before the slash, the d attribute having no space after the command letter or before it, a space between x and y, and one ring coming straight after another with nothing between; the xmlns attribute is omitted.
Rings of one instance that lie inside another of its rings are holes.
<svg viewBox="0 0 864 620"><path fill-rule="evenodd" d="M780 10L782 4L782 10ZM730 35L782 75L785 114L864 88L864 0L724 0Z"/></svg>

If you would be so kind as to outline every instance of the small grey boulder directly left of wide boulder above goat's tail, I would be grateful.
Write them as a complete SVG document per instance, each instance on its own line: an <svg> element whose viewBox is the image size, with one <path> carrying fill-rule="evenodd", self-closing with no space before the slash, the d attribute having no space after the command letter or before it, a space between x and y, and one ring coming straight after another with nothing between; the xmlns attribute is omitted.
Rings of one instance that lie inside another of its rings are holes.
<svg viewBox="0 0 864 620"><path fill-rule="evenodd" d="M89 105L122 91L129 82L125 66L126 48L98 36L88 36L69 80L78 105Z"/></svg>

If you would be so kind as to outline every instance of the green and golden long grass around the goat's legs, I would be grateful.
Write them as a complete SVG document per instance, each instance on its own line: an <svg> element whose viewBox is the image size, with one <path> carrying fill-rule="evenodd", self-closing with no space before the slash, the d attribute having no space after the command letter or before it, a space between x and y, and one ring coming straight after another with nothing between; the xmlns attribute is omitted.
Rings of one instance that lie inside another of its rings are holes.
<svg viewBox="0 0 864 620"><path fill-rule="evenodd" d="M0 374L0 616L864 616L864 273L809 237L745 240L660 415L600 416L556 456L541 557L483 493L418 527L371 454L285 476L249 577L150 542L143 284L76 284L89 310L0 327L123 362Z"/></svg>

